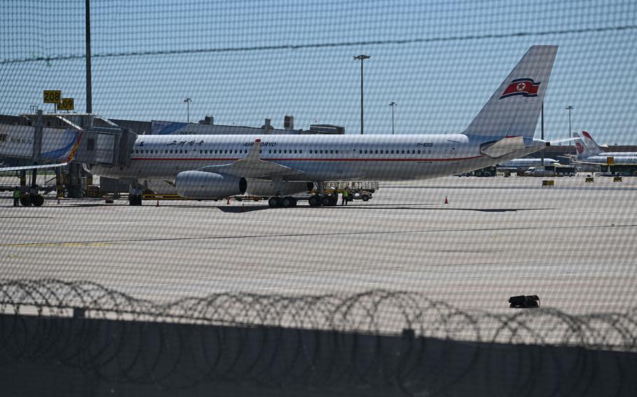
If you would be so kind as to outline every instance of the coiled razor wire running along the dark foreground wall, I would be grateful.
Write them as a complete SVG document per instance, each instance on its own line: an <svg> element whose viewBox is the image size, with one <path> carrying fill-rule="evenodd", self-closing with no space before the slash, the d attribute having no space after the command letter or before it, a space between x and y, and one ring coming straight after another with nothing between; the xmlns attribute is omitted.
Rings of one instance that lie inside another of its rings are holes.
<svg viewBox="0 0 637 397"><path fill-rule="evenodd" d="M442 348L432 351L435 343ZM519 368L531 357L573 370L552 349L566 349L575 363L590 361L587 349L637 352L637 310L574 316L540 308L495 315L384 290L237 292L154 303L95 282L0 280L0 366L62 363L106 382L179 389L252 380L270 387L362 384L406 395L448 394L463 374L482 368L485 357L493 362L484 347L490 344L507 346ZM454 355L458 346L461 360ZM538 356L538 346L549 347ZM450 357L457 367L451 375L437 366ZM626 372L623 361L613 363ZM581 387L578 382L560 384L560 390Z"/></svg>

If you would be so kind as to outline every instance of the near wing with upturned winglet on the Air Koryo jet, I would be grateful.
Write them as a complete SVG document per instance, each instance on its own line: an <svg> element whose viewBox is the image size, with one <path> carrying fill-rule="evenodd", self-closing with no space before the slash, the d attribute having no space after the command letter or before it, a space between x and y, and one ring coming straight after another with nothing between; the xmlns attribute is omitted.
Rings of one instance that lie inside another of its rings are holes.
<svg viewBox="0 0 637 397"><path fill-rule="evenodd" d="M252 150L243 159L235 160L229 164L221 164L220 166L202 167L197 169L197 171L224 173L244 178L272 178L304 173L304 171L295 168L259 159L260 147L261 140L255 139Z"/></svg>

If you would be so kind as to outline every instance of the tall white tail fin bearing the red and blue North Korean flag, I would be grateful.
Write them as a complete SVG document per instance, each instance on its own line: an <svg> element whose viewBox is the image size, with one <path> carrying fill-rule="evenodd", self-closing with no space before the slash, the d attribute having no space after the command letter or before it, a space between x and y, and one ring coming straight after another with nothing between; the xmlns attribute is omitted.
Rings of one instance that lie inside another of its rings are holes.
<svg viewBox="0 0 637 397"><path fill-rule="evenodd" d="M553 70L557 45L533 45L463 132L489 140L532 138Z"/></svg>

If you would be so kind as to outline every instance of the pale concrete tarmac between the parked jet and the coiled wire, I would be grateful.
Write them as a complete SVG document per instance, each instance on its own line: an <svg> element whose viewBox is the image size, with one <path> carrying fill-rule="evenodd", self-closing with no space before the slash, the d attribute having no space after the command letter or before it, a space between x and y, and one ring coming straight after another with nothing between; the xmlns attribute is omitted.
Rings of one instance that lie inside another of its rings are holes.
<svg viewBox="0 0 637 397"><path fill-rule="evenodd" d="M636 308L637 178L549 179L381 183L371 201L332 208L53 194L13 208L3 192L0 277L91 280L155 301L388 289L489 312L521 294L572 314Z"/></svg>

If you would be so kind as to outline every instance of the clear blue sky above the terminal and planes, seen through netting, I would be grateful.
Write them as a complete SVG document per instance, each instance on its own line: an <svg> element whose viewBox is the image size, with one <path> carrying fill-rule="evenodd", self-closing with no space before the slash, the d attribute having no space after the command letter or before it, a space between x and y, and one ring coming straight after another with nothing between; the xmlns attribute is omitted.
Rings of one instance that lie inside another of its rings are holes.
<svg viewBox="0 0 637 397"><path fill-rule="evenodd" d="M62 89L85 109L84 1L0 5L0 113ZM93 109L105 117L365 133L460 132L530 45L560 46L546 137L637 144L637 2L92 1ZM52 106L44 107L51 110ZM536 136L539 136L539 127Z"/></svg>

